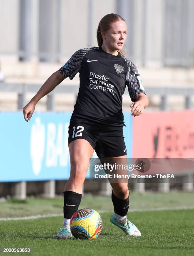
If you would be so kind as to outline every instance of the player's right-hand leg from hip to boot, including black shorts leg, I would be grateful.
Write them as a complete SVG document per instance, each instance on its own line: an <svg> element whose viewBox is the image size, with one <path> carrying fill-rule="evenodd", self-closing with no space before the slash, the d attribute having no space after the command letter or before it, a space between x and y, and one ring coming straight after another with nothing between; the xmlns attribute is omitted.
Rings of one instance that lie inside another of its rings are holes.
<svg viewBox="0 0 194 256"><path fill-rule="evenodd" d="M99 159L109 162L110 164L127 164L127 149L124 142L123 128L109 126L101 133L100 143L97 144L95 151ZM128 174L127 170L114 170L117 174ZM113 173L113 172L112 172ZM114 205L114 214L110 220L114 225L128 234L141 236L139 230L129 220L127 220L127 212L129 210L129 189L128 179L114 179L109 182L112 186L112 202Z"/></svg>

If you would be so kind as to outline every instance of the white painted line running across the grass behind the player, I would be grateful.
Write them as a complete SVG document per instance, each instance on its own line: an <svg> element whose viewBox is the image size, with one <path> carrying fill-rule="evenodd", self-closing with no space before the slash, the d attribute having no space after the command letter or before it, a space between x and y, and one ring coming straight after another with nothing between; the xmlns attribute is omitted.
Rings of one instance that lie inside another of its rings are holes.
<svg viewBox="0 0 194 256"><path fill-rule="evenodd" d="M150 211L165 211L165 210L193 210L194 206L177 206L177 207L160 207L160 208L144 208L144 209L130 209L130 212L150 212ZM99 213L110 212L106 210L97 210ZM43 215L32 215L32 216L25 216L25 217L17 217L17 218L0 218L0 221L7 221L7 220L33 220L39 218L47 218L47 217L59 217L63 216L63 214L43 214Z"/></svg>

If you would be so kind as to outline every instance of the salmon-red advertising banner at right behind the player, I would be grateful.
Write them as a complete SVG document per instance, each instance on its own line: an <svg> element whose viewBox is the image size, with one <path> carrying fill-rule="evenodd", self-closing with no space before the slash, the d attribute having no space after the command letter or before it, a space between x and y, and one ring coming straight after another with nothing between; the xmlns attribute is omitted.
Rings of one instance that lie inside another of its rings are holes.
<svg viewBox="0 0 194 256"><path fill-rule="evenodd" d="M194 158L194 110L133 117L132 158Z"/></svg>

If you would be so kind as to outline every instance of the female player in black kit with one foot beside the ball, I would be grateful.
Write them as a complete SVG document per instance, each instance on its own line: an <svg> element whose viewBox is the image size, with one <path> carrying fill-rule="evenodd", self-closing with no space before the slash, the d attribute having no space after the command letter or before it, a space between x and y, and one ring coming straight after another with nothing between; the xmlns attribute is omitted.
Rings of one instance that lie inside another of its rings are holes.
<svg viewBox="0 0 194 256"><path fill-rule="evenodd" d="M37 94L23 108L30 120L37 102L66 77L80 73L80 89L69 125L70 178L64 189L64 223L56 238L71 238L70 218L78 210L82 187L94 150L99 159L127 158L123 136L122 95L127 85L133 103L132 116L141 115L148 106L141 78L135 65L122 53L127 36L124 18L111 13L99 22L99 47L76 51L58 71L52 74ZM114 214L110 221L127 235L141 236L127 220L128 184L111 183Z"/></svg>

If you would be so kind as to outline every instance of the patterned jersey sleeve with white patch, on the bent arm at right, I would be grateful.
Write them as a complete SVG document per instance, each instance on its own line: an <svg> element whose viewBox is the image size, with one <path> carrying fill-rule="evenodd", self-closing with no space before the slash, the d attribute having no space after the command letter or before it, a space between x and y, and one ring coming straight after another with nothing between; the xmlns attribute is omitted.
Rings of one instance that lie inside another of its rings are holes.
<svg viewBox="0 0 194 256"><path fill-rule="evenodd" d="M131 100L136 101L136 95L138 95L139 93L144 93L146 95L146 93L137 67L135 67L135 65L130 61L127 63L127 66L128 71L126 75L126 84Z"/></svg>

